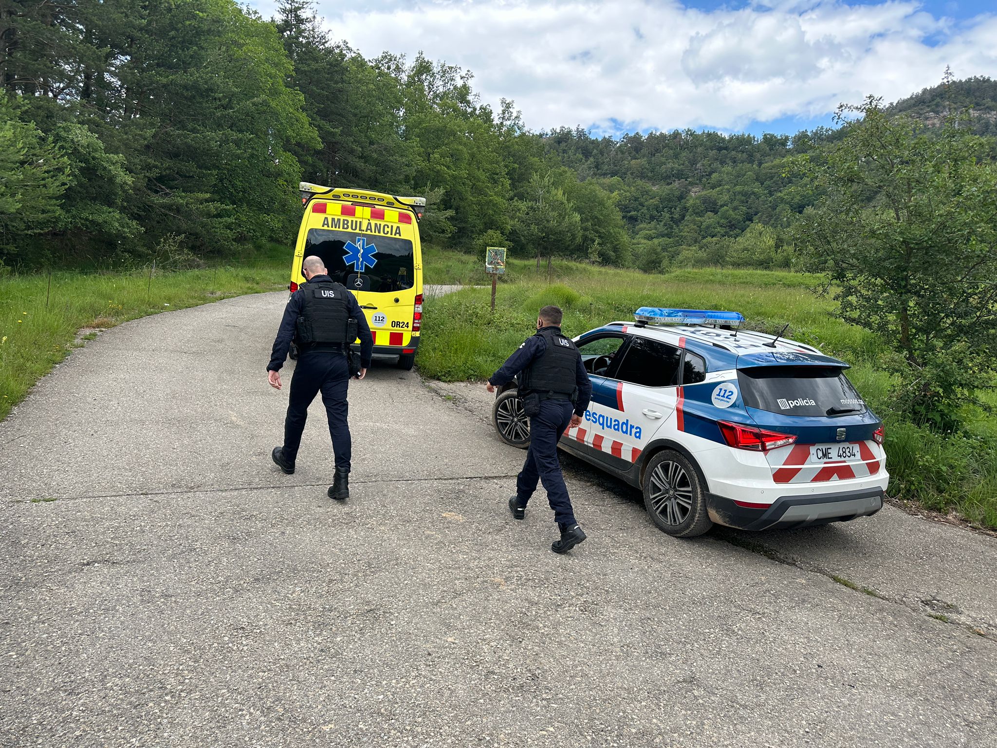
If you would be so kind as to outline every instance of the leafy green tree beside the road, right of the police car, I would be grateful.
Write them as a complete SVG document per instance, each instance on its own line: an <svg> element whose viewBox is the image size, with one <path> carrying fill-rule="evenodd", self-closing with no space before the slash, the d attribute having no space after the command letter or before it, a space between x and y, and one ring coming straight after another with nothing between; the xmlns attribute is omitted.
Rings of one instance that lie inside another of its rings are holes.
<svg viewBox="0 0 997 748"><path fill-rule="evenodd" d="M798 162L826 196L797 235L839 313L882 339L896 408L946 430L997 373L997 170L950 119L935 136L869 98L820 158Z"/></svg>

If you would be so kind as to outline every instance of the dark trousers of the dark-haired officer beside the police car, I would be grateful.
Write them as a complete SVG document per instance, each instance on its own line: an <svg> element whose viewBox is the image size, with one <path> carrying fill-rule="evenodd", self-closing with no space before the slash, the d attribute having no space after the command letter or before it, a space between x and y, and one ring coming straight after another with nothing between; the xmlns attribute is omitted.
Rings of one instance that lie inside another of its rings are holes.
<svg viewBox="0 0 997 748"><path fill-rule="evenodd" d="M568 400L543 400L539 415L529 419L529 449L526 462L515 479L515 495L526 506L536 491L537 481L543 482L547 501L559 525L574 525L574 510L567 496L567 486L557 460L557 440L571 421L574 406Z"/></svg>

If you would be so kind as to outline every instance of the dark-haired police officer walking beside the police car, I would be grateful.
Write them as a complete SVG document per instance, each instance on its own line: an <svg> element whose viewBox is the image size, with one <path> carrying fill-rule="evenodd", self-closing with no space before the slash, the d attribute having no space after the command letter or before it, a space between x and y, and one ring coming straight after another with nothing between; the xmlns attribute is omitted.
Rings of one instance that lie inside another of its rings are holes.
<svg viewBox="0 0 997 748"><path fill-rule="evenodd" d="M557 440L568 426L581 424L581 416L592 397L592 384L581 362L581 354L570 338L560 331L562 313L556 306L544 306L536 320L536 334L526 339L518 350L492 375L489 392L519 375L519 398L529 416L529 450L526 462L515 481L515 496L508 500L512 517L526 515L526 502L536 491L537 480L543 482L547 501L560 528L560 540L550 550L555 554L570 551L585 540L578 527L567 495Z"/></svg>

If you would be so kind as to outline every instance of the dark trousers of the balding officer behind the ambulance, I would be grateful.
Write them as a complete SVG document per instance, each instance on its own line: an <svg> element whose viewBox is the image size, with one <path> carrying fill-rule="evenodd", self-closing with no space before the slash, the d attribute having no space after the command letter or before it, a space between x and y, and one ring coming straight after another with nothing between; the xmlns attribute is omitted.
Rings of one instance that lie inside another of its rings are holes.
<svg viewBox="0 0 997 748"><path fill-rule="evenodd" d="M290 403L287 418L284 419L285 460L294 464L301 446L301 432L308 418L308 406L321 391L325 414L329 419L336 469L349 472L352 452L350 427L346 423L346 391L349 386L350 372L345 354L338 351L305 351L301 354L291 377Z"/></svg>

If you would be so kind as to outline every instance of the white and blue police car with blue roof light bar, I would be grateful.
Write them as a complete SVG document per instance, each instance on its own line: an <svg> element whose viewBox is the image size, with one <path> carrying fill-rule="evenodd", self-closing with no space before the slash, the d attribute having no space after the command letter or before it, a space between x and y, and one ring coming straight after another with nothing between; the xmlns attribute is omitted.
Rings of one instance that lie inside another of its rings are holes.
<svg viewBox="0 0 997 748"><path fill-rule="evenodd" d="M559 446L643 490L680 538L843 522L882 508L882 423L844 375L805 343L740 329L738 312L641 307L574 338L592 380L580 426ZM526 447L510 383L493 420Z"/></svg>

